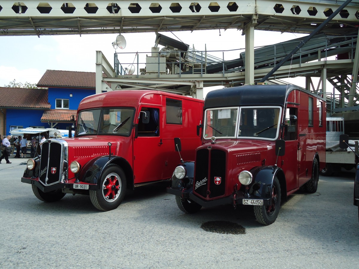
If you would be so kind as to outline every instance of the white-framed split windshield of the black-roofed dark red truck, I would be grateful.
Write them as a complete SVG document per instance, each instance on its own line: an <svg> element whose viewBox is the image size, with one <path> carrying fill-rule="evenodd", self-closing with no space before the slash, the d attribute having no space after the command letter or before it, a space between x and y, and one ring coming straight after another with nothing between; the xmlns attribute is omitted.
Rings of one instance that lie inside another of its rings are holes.
<svg viewBox="0 0 359 269"><path fill-rule="evenodd" d="M278 137L281 107L230 107L207 109L204 139Z"/></svg>

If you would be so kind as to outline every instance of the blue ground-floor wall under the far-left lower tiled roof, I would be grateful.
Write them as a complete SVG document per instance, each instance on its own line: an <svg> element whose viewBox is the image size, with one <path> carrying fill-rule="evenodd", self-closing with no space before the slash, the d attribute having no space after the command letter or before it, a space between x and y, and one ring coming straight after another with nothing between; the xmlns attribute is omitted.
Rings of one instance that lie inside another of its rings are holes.
<svg viewBox="0 0 359 269"><path fill-rule="evenodd" d="M10 126L45 126L48 124L41 122L44 110L34 109L6 109L6 135L10 135Z"/></svg>

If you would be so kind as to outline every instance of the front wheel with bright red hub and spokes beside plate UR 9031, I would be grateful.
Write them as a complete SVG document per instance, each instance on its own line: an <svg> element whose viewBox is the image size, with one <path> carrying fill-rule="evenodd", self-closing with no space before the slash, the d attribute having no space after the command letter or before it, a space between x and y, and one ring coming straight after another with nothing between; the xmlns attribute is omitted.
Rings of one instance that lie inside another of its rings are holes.
<svg viewBox="0 0 359 269"><path fill-rule="evenodd" d="M125 194L125 172L118 165L111 164L102 173L99 190L90 190L90 199L97 209L109 211L121 204Z"/></svg>

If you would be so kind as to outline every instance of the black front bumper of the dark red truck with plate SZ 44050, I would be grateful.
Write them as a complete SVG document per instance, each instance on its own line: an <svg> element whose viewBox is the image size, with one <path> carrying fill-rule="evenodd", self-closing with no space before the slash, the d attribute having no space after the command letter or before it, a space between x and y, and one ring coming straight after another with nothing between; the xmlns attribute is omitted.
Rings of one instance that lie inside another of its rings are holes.
<svg viewBox="0 0 359 269"><path fill-rule="evenodd" d="M200 204L202 207L215 207L215 206L222 206L224 204L232 204L233 206L237 206L238 204L243 204L243 199L263 200L264 206L269 206L271 202L270 199L263 199L255 195L244 197L243 194L239 191L227 197L222 197L214 200L201 199L197 195L193 194L192 190L189 189L178 189L178 188L167 187L166 191L169 194L174 194L185 199L190 199L193 202Z"/></svg>

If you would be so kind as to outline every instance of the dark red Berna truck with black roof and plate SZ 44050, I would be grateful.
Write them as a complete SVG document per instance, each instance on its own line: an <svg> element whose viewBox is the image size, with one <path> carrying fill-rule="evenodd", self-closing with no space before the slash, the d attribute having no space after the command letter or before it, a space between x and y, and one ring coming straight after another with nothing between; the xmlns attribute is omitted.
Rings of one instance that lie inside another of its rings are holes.
<svg viewBox="0 0 359 269"><path fill-rule="evenodd" d="M299 188L314 193L325 167L325 100L294 86L210 91L196 159L182 162L167 192L194 213L224 204L254 206L269 225ZM180 146L185 142L177 141Z"/></svg>

